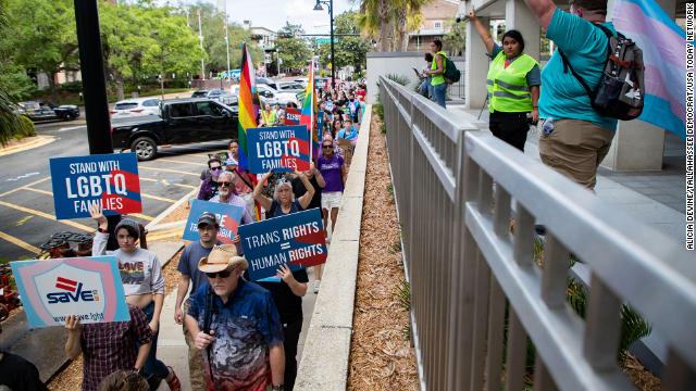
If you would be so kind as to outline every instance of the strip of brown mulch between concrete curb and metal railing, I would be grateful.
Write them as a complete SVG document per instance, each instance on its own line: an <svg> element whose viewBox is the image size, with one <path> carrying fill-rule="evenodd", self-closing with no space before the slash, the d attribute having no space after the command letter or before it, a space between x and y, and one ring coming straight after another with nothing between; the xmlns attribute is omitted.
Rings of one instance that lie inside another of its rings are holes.
<svg viewBox="0 0 696 391"><path fill-rule="evenodd" d="M373 115L360 232L348 390L419 390L409 313L399 302L403 277L400 228L386 142Z"/></svg>

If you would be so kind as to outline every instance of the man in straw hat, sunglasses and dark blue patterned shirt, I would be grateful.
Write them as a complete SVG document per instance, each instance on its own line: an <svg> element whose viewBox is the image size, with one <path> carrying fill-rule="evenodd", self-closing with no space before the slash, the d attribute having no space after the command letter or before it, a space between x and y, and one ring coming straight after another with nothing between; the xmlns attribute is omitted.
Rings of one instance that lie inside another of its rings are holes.
<svg viewBox="0 0 696 391"><path fill-rule="evenodd" d="M283 327L271 293L239 278L235 245L215 245L198 263L208 277L190 299L186 327L203 350L208 390L283 390Z"/></svg>

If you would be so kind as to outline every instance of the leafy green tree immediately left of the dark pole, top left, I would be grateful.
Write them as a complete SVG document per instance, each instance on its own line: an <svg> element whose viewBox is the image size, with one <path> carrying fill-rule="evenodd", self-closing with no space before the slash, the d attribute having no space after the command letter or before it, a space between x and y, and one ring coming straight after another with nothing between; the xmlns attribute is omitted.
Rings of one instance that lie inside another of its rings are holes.
<svg viewBox="0 0 696 391"><path fill-rule="evenodd" d="M79 70L73 1L9 0L8 14L5 43L14 48L16 64L46 73L57 102L55 74Z"/></svg>

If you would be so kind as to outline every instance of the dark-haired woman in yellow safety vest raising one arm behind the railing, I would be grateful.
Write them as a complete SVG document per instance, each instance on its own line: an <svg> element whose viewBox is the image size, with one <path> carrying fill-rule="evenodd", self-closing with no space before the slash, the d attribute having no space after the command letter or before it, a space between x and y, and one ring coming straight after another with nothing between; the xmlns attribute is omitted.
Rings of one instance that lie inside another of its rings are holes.
<svg viewBox="0 0 696 391"><path fill-rule="evenodd" d="M524 39L520 31L506 31L500 48L473 10L469 17L493 59L486 80L490 112L488 128L497 138L524 151L530 119L532 123L539 119L539 64L523 53Z"/></svg>

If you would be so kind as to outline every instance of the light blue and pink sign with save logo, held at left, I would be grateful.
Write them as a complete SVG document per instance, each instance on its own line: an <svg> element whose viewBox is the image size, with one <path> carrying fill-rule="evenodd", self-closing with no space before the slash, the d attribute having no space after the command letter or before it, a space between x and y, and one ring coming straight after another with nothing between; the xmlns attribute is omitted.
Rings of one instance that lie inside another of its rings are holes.
<svg viewBox="0 0 696 391"><path fill-rule="evenodd" d="M29 327L130 319L115 256L10 263Z"/></svg>

